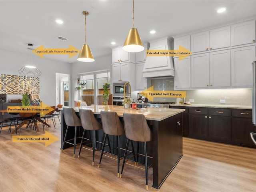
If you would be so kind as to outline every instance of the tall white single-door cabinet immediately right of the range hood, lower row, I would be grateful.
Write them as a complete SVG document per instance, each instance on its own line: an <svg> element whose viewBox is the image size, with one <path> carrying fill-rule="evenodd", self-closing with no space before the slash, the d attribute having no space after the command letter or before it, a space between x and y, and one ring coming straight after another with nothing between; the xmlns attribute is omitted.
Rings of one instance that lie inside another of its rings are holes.
<svg viewBox="0 0 256 192"><path fill-rule="evenodd" d="M174 58L174 90L184 90L191 87L190 56L179 60Z"/></svg>

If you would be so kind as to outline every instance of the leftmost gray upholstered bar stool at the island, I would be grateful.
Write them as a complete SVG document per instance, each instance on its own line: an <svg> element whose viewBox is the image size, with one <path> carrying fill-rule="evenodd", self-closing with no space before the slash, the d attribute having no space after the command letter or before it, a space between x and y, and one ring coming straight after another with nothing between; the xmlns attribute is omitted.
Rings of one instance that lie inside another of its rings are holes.
<svg viewBox="0 0 256 192"><path fill-rule="evenodd" d="M76 153L76 130L77 127L82 126L80 119L78 118L78 116L76 115L76 112L74 111L73 108L63 108L63 115L64 115L64 119L67 125L67 130L65 133L65 137L64 137L64 141L62 144L62 152L63 152L63 147L64 144L67 142L69 144L74 145L74 157L75 157L75 153ZM66 141L66 137L68 134L68 128L69 127L75 127L75 135L74 135L74 143L70 143L68 141Z"/></svg>

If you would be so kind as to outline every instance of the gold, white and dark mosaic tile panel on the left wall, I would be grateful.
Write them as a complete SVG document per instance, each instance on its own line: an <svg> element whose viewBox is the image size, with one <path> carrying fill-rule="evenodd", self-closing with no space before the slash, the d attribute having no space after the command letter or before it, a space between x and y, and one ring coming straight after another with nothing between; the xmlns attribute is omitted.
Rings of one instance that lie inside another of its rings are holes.
<svg viewBox="0 0 256 192"><path fill-rule="evenodd" d="M22 94L18 88L18 84L22 79L31 78L34 90L31 94L40 94L39 77L26 77L17 75L0 74L0 94Z"/></svg>

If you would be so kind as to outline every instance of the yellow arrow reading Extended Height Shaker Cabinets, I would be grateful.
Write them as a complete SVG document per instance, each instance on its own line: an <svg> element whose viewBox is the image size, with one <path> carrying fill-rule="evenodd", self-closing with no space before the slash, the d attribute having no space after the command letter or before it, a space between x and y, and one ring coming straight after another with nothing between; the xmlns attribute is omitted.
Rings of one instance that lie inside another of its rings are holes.
<svg viewBox="0 0 256 192"><path fill-rule="evenodd" d="M147 50L146 55L148 56L178 56L179 60L190 56L192 52L179 45L179 50Z"/></svg>

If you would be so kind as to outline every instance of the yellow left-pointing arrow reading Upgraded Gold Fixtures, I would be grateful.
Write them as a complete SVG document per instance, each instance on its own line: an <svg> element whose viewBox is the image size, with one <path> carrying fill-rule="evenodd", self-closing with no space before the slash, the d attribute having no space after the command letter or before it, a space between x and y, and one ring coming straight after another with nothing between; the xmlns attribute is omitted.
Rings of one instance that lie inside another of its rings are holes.
<svg viewBox="0 0 256 192"><path fill-rule="evenodd" d="M153 101L154 97L174 97L183 98L186 97L186 91L154 91L154 86L140 92L140 94L150 101Z"/></svg>

